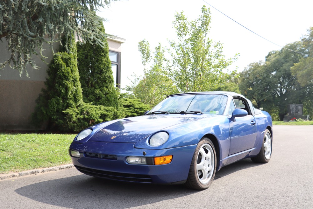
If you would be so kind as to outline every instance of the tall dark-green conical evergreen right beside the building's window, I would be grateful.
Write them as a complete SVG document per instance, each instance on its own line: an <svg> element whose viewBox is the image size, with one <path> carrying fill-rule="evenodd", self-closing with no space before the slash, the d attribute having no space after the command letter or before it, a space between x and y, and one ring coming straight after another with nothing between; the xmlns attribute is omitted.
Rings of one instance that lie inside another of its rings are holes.
<svg viewBox="0 0 313 209"><path fill-rule="evenodd" d="M100 30L105 34L102 22ZM77 43L77 62L83 99L86 103L118 107L118 97L112 75L109 46L102 39L102 46L96 43Z"/></svg>

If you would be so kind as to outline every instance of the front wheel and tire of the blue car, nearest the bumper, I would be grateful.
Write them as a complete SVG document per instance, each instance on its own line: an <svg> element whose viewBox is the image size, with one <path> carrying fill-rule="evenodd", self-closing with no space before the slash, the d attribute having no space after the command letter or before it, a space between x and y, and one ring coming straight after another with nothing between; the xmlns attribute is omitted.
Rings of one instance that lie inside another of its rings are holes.
<svg viewBox="0 0 313 209"><path fill-rule="evenodd" d="M203 137L193 154L185 185L194 190L205 190L211 185L215 172L215 147L210 139Z"/></svg>

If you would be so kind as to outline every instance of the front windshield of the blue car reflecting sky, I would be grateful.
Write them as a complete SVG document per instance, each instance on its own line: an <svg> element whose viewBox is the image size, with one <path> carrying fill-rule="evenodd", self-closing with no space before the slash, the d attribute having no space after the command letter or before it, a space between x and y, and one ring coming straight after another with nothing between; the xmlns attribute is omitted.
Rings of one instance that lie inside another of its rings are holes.
<svg viewBox="0 0 313 209"><path fill-rule="evenodd" d="M156 105L152 112L181 113L182 111L196 111L204 114L224 113L228 97L221 94L187 94L165 98Z"/></svg>

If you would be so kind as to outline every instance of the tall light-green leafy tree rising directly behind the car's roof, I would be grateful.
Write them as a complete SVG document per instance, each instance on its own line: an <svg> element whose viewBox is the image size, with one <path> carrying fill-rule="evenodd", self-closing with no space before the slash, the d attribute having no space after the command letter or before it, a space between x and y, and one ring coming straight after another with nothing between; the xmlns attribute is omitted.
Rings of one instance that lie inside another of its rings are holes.
<svg viewBox="0 0 313 209"><path fill-rule="evenodd" d="M208 37L210 10L203 6L201 11L196 20L188 21L181 12L175 14L176 20L173 21L178 42L170 41L171 78L180 92L221 89L226 76L222 70L238 56L236 54L233 59L225 58L222 44L213 42Z"/></svg>

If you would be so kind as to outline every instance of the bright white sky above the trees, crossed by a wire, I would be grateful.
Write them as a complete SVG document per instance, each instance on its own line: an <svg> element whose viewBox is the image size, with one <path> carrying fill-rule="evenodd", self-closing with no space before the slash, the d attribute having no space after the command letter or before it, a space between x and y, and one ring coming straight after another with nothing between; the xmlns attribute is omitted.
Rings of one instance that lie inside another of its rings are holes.
<svg viewBox="0 0 313 209"><path fill-rule="evenodd" d="M313 26L313 1L310 0L207 0L209 4L264 38L285 46L298 41ZM264 61L276 46L243 28L203 0L126 0L112 2L108 9L98 13L107 19L105 32L126 39L122 44L121 88L129 84L131 74L143 74L138 42L146 39L151 49L160 42L168 46L176 40L172 28L175 12L184 11L188 20L196 19L201 8L211 9L209 37L223 43L227 58L240 53L239 59L229 67L244 70L251 62Z"/></svg>

